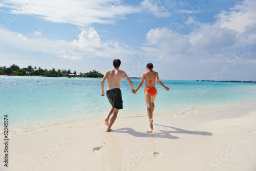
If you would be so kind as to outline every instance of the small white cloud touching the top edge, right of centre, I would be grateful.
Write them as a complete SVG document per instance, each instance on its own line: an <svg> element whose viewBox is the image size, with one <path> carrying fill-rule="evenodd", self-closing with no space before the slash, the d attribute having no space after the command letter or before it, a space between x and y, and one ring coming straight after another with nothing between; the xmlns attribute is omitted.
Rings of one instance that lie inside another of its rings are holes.
<svg viewBox="0 0 256 171"><path fill-rule="evenodd" d="M171 15L164 6L153 0L144 0L140 5L145 10L152 12L156 17L169 17Z"/></svg>

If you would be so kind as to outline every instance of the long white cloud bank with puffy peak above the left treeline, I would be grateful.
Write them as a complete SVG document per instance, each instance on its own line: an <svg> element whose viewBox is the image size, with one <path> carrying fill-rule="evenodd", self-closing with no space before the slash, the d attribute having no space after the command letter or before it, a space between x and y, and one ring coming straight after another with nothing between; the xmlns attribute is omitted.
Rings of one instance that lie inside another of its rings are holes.
<svg viewBox="0 0 256 171"><path fill-rule="evenodd" d="M41 35L40 32L34 32ZM136 52L127 50L125 44L102 41L94 28L82 30L78 39L73 41L51 40L42 36L25 37L16 32L0 28L0 46L10 46L25 52L51 53L64 59L81 59L82 57L128 57Z"/></svg>

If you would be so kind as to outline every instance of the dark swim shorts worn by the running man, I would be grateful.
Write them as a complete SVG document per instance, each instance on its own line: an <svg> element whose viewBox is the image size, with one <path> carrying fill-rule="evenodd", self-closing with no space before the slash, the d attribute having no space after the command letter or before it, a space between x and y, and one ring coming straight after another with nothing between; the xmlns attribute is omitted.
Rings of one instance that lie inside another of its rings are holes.
<svg viewBox="0 0 256 171"><path fill-rule="evenodd" d="M106 91L106 97L108 97L113 108L123 109L122 93L120 89Z"/></svg>

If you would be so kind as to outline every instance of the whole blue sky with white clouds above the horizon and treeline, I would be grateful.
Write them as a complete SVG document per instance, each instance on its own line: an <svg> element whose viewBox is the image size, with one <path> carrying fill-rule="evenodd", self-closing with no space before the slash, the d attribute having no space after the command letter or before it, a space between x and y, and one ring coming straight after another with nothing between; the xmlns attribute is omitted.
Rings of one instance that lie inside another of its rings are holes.
<svg viewBox="0 0 256 171"><path fill-rule="evenodd" d="M0 66L256 81L255 0L0 2Z"/></svg>

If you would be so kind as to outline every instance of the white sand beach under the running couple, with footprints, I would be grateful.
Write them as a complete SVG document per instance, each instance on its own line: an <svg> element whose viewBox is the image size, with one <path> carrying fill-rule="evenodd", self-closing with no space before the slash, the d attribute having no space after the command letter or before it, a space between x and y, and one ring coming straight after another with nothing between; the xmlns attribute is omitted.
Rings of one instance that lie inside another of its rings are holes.
<svg viewBox="0 0 256 171"><path fill-rule="evenodd" d="M12 136L1 170L256 170L256 105ZM3 139L1 149L3 149ZM98 147L98 148L97 148ZM2 158L3 160L3 158Z"/></svg>

